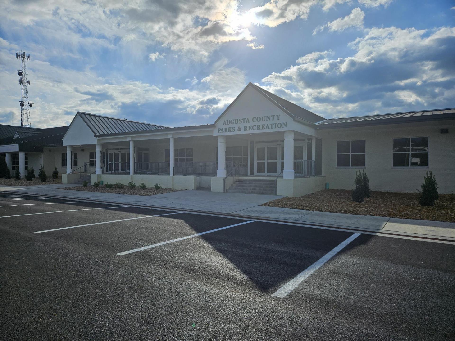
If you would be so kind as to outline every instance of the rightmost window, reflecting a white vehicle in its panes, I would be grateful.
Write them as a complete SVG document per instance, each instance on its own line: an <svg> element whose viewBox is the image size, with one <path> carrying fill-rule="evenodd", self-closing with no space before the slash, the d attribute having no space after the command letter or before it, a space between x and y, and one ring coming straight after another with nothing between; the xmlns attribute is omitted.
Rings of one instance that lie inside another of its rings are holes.
<svg viewBox="0 0 455 341"><path fill-rule="evenodd" d="M394 139L394 167L428 167L428 137Z"/></svg>

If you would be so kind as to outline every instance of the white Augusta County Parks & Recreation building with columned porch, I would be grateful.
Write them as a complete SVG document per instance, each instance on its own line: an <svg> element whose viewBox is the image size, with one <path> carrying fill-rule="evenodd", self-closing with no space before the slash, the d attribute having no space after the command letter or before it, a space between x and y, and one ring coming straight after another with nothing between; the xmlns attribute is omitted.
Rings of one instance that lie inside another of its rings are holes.
<svg viewBox="0 0 455 341"><path fill-rule="evenodd" d="M11 146L0 145L7 160L18 151ZM433 171L440 193L454 193L455 108L326 120L249 83L212 125L168 128L78 112L62 147L42 148L41 160L46 172L58 160L67 183L303 196L352 189L358 170L372 190L415 192Z"/></svg>

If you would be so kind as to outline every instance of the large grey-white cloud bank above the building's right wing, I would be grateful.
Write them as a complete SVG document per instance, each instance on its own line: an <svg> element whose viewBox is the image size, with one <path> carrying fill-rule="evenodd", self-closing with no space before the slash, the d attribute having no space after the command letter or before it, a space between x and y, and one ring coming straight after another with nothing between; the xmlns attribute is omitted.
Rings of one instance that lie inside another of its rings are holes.
<svg viewBox="0 0 455 341"><path fill-rule="evenodd" d="M455 105L455 28L375 27L349 46L351 56L313 52L262 81L327 117Z"/></svg>

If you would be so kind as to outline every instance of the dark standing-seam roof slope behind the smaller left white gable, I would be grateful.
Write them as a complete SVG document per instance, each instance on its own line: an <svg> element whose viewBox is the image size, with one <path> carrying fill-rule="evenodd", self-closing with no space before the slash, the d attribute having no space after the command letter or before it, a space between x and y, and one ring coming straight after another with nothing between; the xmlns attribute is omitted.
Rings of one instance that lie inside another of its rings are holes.
<svg viewBox="0 0 455 341"><path fill-rule="evenodd" d="M94 135L132 133L136 131L167 128L164 125L122 120L119 118L94 115L80 111L78 111L78 114Z"/></svg>

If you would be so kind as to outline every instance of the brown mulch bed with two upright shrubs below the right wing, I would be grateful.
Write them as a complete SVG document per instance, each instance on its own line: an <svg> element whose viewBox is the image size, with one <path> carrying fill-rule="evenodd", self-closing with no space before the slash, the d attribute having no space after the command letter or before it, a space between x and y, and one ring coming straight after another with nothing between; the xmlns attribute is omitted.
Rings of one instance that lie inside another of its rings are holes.
<svg viewBox="0 0 455 341"><path fill-rule="evenodd" d="M364 216L455 222L455 194L440 194L435 206L419 204L418 193L372 191L364 202L352 201L351 191L324 190L299 198L281 198L263 206L299 210L348 213Z"/></svg>

